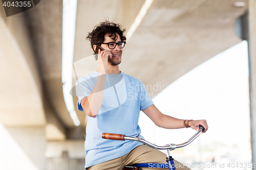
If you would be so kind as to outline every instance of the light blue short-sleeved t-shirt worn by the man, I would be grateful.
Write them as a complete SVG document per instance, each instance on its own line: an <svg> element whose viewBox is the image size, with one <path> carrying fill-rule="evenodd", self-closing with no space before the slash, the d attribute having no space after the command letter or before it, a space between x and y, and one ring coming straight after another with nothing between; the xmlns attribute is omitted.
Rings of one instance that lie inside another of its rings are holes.
<svg viewBox="0 0 256 170"><path fill-rule="evenodd" d="M91 94L99 72L81 77L76 83L77 108L83 111L81 100ZM89 103L90 104L90 103ZM121 72L106 75L103 102L97 116L87 116L86 167L112 160L129 153L142 144L130 140L102 139L102 133L117 133L143 138L138 125L139 112L153 105L141 81Z"/></svg>

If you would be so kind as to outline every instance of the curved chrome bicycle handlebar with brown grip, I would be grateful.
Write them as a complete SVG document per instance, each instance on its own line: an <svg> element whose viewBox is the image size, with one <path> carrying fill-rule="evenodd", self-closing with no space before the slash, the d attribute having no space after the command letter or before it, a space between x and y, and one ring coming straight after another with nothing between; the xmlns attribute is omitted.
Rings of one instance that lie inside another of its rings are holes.
<svg viewBox="0 0 256 170"><path fill-rule="evenodd" d="M112 139L112 140L135 140L135 141L139 141L143 144L146 144L151 148L155 148L158 150L175 150L176 148L185 147L186 145L191 143L193 140L195 140L204 131L203 126L200 125L198 128L199 128L199 131L193 137L191 137L188 141L181 143L181 144L168 144L168 145L165 145L164 147L160 147L158 145L152 144L152 143L150 143L144 139L141 139L139 137L131 137L131 136L125 136L125 135L121 135L121 134L102 133L102 138L103 139Z"/></svg>

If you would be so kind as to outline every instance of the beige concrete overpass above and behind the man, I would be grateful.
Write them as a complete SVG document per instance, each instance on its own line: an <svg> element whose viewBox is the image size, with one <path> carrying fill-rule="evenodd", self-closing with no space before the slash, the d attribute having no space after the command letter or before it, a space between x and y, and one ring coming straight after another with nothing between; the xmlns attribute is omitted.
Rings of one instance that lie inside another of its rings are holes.
<svg viewBox="0 0 256 170"><path fill-rule="evenodd" d="M78 0L74 47L74 63L80 63L77 65L78 77L97 67L95 60L83 60L93 54L90 42L86 40L87 33L106 18L121 23L129 32L145 2ZM236 6L236 2L152 1L124 48L120 69L145 85L157 82L169 85L199 64L241 42L234 32L234 23L246 13L248 6L251 45L255 46L255 36L252 36L256 32L253 27L255 2L251 0L249 5L248 1L241 0L241 6ZM34 8L10 17L6 17L3 6L0 6L0 14L0 122L19 143L35 169L46 168L45 152L49 143L70 147L78 144L78 153L82 155L86 114L76 109L77 98L74 97L75 111L81 123L76 127L62 92L62 1L41 1ZM256 87L254 51L251 46L252 87ZM73 85L75 81L73 72ZM147 90L151 97L160 92Z"/></svg>

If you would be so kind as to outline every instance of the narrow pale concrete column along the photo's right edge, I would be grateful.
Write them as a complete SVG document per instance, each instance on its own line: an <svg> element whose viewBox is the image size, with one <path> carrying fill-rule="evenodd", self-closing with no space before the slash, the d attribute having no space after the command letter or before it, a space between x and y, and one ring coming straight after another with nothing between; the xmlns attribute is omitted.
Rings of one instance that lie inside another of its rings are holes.
<svg viewBox="0 0 256 170"><path fill-rule="evenodd" d="M256 1L254 0L249 0L249 86L251 118L251 151L252 162L256 163Z"/></svg>

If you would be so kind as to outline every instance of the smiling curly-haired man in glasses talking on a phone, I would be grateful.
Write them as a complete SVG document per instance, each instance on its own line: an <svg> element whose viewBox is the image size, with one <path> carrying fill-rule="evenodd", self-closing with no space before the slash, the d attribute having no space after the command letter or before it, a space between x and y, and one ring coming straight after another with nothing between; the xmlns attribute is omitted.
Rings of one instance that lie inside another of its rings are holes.
<svg viewBox="0 0 256 170"><path fill-rule="evenodd" d="M126 40L124 32L120 25L105 21L87 37L94 51L97 45L102 48L97 50L97 70L77 81L77 92L82 94L77 107L86 112L88 120L85 149L89 170L123 169L125 165L143 162L166 163L164 153L140 142L101 138L104 132L143 138L138 126L140 110L162 128L199 130L202 125L203 133L208 129L206 120L182 120L162 114L141 81L119 70Z"/></svg>

